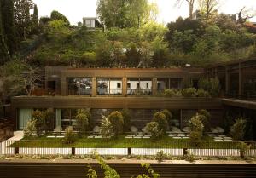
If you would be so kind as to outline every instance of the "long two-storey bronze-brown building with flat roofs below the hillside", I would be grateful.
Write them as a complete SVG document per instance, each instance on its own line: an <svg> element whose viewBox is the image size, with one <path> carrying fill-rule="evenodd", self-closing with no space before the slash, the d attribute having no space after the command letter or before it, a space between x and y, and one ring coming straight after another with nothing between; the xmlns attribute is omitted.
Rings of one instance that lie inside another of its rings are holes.
<svg viewBox="0 0 256 178"><path fill-rule="evenodd" d="M199 109L207 109L212 126L224 123L227 108L248 110L256 129L256 60L239 60L202 68L137 69L45 67L45 92L38 96L16 96L12 99L15 129L24 129L35 109L55 109L55 126L74 124L76 109L90 109L94 125L102 114L128 109L131 124L141 129L155 111L169 109L173 125L183 128ZM183 89L188 83L195 89L202 77L217 77L221 98L163 97L164 89ZM54 92L53 92L54 91ZM53 95L54 93L54 95ZM232 97L232 99L230 99ZM245 100L250 99L250 100Z"/></svg>

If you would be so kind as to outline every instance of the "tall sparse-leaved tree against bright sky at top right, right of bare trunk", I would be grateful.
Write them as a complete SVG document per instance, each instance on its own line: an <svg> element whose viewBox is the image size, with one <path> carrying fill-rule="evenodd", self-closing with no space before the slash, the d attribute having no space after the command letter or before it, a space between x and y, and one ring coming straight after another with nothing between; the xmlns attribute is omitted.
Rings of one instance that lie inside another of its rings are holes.
<svg viewBox="0 0 256 178"><path fill-rule="evenodd" d="M200 12L206 20L209 20L211 15L217 9L218 0L198 0Z"/></svg>

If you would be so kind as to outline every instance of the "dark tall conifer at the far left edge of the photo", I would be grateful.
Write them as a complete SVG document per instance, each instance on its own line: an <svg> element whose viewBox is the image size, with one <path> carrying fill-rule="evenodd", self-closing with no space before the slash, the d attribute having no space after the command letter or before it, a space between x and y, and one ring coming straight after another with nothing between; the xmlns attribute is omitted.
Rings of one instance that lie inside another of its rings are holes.
<svg viewBox="0 0 256 178"><path fill-rule="evenodd" d="M1 41L8 57L14 54L16 49L14 3L12 0L1 0L2 9L2 34Z"/></svg>

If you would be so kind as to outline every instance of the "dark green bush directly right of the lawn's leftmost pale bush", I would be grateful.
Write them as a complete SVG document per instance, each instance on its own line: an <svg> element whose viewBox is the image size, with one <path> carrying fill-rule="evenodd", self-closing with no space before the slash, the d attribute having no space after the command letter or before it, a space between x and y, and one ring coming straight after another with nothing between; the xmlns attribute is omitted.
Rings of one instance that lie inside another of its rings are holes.
<svg viewBox="0 0 256 178"><path fill-rule="evenodd" d="M35 128L36 128L36 134L42 135L44 129L45 129L45 114L41 111L34 111L32 112L32 119L35 120Z"/></svg>

